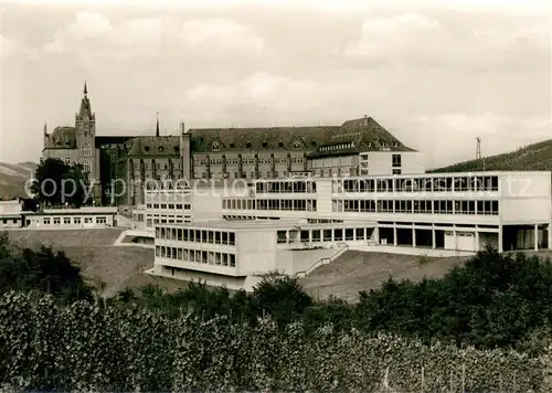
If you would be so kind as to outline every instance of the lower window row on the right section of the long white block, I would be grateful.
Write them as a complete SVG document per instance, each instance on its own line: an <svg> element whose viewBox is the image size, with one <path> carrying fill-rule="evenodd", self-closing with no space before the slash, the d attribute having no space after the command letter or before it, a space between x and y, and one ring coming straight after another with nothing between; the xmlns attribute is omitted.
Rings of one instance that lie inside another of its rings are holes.
<svg viewBox="0 0 552 393"><path fill-rule="evenodd" d="M333 200L333 212L498 215L498 201Z"/></svg>

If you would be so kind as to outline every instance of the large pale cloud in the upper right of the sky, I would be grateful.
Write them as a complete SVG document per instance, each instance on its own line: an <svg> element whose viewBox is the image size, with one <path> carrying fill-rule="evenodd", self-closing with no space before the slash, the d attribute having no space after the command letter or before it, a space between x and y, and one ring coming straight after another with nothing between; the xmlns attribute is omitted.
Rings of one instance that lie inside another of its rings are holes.
<svg viewBox="0 0 552 393"><path fill-rule="evenodd" d="M543 18L502 15L488 23L474 18L468 24L405 13L367 20L361 38L343 54L383 66L513 70L542 64L550 52L549 36Z"/></svg>

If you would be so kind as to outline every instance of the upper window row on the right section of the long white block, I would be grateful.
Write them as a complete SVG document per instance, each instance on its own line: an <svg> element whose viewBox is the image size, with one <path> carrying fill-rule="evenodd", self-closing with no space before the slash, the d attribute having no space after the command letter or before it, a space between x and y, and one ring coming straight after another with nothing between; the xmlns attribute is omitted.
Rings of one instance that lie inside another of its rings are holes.
<svg viewBox="0 0 552 393"><path fill-rule="evenodd" d="M333 182L333 192L452 192L498 191L498 177L421 179L343 179Z"/></svg>

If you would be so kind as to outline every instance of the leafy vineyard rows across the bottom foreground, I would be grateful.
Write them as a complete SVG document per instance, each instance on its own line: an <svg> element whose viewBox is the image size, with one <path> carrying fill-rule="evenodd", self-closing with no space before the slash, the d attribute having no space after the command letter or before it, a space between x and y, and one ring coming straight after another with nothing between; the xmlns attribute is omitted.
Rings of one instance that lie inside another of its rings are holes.
<svg viewBox="0 0 552 393"><path fill-rule="evenodd" d="M0 390L548 392L545 358L389 334L0 297Z"/></svg>

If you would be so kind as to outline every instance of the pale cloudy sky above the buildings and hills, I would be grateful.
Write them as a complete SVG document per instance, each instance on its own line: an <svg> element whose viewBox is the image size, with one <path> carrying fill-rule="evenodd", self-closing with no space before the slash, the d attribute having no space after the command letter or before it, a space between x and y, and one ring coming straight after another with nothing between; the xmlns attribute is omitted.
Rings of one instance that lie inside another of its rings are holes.
<svg viewBox="0 0 552 393"><path fill-rule="evenodd" d="M428 168L552 138L550 1L0 1L0 161L97 135L371 116Z"/></svg>

